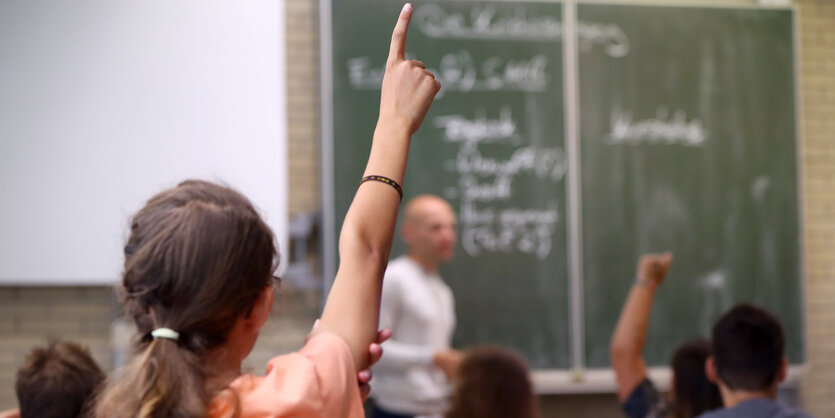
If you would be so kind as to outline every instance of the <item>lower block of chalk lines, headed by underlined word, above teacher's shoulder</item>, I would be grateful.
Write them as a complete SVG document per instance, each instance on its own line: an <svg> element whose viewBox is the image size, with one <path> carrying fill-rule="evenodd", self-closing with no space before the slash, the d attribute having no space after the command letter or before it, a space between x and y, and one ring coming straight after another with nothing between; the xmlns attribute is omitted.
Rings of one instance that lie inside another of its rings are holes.
<svg viewBox="0 0 835 418"><path fill-rule="evenodd" d="M513 185L521 175L552 184L563 181L565 152L527 144L510 107L501 107L495 116L484 108L473 113L432 119L442 140L458 147L455 158L444 165L457 177L457 187L447 188L444 195L458 202L464 251L473 257L500 252L547 258L561 220L559 205L550 200L545 207L518 207ZM496 153L497 148L502 152Z"/></svg>

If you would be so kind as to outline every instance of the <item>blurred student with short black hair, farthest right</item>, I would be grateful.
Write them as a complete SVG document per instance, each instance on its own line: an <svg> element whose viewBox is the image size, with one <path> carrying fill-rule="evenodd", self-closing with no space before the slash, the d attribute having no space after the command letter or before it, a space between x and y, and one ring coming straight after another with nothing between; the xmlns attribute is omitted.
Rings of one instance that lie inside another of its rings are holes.
<svg viewBox="0 0 835 418"><path fill-rule="evenodd" d="M737 305L716 322L712 338L706 370L719 385L725 409L701 417L809 417L775 401L788 368L783 327L777 318L753 305Z"/></svg>

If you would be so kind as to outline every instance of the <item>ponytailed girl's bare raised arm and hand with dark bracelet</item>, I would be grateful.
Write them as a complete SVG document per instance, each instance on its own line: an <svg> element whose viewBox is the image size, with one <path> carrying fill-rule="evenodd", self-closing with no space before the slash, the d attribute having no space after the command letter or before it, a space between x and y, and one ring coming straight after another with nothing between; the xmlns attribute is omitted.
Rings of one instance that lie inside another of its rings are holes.
<svg viewBox="0 0 835 418"><path fill-rule="evenodd" d="M364 174L388 177L400 184L411 136L440 89L422 63L405 58L411 15L412 7L407 4L392 33L380 117ZM368 346L377 336L383 273L399 206L400 197L389 185L371 181L359 187L342 225L339 269L315 331L342 337L358 370L368 367Z"/></svg>

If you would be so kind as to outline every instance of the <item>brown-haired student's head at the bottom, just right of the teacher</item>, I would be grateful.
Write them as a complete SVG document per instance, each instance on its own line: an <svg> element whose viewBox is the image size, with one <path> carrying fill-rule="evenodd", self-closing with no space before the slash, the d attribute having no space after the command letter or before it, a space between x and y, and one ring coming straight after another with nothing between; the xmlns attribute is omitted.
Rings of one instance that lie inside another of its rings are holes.
<svg viewBox="0 0 835 418"><path fill-rule="evenodd" d="M470 350L447 418L535 418L539 406L525 361L501 347Z"/></svg>

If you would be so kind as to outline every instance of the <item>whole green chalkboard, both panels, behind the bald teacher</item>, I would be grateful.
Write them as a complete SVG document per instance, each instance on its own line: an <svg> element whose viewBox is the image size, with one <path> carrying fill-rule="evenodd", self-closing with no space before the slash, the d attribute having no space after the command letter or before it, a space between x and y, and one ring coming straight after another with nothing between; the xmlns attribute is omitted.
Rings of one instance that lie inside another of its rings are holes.
<svg viewBox="0 0 835 418"><path fill-rule="evenodd" d="M402 3L325 1L333 255ZM654 308L651 365L738 301L777 313L802 362L791 11L580 4L572 155L561 3L414 4L407 56L443 87L412 141L405 199L437 194L458 214L456 256L441 271L455 293L456 346L507 345L536 369L608 367L638 255L669 248L677 258ZM403 251L396 240L393 256ZM575 259L582 276L572 279Z"/></svg>

